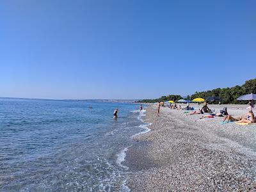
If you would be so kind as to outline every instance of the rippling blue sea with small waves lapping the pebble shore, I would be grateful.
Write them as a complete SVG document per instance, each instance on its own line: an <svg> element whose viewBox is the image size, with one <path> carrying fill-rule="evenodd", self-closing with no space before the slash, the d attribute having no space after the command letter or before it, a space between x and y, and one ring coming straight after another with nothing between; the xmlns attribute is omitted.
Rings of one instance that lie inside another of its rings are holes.
<svg viewBox="0 0 256 192"><path fill-rule="evenodd" d="M129 191L122 161L131 137L143 131L138 108L0 99L0 191Z"/></svg>

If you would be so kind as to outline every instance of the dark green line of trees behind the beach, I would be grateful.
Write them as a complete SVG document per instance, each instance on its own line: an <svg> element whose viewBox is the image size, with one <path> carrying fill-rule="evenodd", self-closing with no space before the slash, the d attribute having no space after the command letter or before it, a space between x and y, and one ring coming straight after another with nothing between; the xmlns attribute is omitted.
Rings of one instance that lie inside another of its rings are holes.
<svg viewBox="0 0 256 192"><path fill-rule="evenodd" d="M231 88L216 88L214 90L208 90L206 92L195 92L193 95L186 97L185 99L195 99L196 97L206 98L211 96L220 97L221 104L244 104L247 101L239 101L237 97L241 95L256 93L256 79L250 79L245 81L242 86L236 85ZM143 99L138 102L154 103L159 101L174 100L177 101L182 99L180 95L167 95L162 96L158 99Z"/></svg>

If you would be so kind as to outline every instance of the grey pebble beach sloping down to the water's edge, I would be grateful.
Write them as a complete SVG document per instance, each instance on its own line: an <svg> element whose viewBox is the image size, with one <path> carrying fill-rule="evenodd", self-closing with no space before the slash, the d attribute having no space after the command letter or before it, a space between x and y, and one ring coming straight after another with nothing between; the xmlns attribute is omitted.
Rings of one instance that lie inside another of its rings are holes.
<svg viewBox="0 0 256 192"><path fill-rule="evenodd" d="M248 111L225 106L230 115ZM221 125L221 117L200 120L170 108L156 116L156 106L146 114L152 130L134 138L125 161L131 191L256 191L256 125Z"/></svg>

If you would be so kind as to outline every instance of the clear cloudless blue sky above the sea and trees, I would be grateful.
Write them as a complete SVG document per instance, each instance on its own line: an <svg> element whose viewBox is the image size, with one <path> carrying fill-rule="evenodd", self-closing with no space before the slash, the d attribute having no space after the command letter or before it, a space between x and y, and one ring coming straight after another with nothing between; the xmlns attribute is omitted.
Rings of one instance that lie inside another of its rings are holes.
<svg viewBox="0 0 256 192"><path fill-rule="evenodd" d="M256 1L0 1L0 97L151 99L256 76Z"/></svg>

